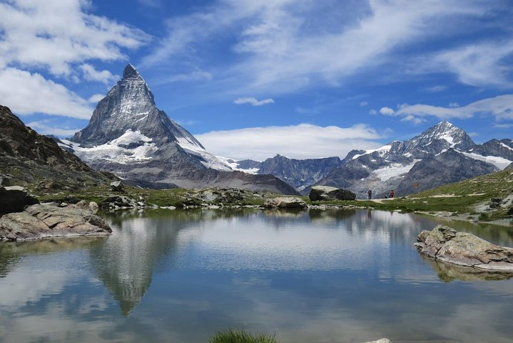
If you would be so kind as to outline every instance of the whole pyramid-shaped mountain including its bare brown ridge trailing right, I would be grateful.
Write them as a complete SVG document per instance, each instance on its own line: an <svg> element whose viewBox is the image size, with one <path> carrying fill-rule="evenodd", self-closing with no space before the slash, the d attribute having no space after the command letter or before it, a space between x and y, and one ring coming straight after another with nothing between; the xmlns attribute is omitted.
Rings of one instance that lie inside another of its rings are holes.
<svg viewBox="0 0 513 343"><path fill-rule="evenodd" d="M269 175L232 172L166 112L132 64L98 102L89 124L62 140L94 169L147 187L235 187L294 193Z"/></svg>

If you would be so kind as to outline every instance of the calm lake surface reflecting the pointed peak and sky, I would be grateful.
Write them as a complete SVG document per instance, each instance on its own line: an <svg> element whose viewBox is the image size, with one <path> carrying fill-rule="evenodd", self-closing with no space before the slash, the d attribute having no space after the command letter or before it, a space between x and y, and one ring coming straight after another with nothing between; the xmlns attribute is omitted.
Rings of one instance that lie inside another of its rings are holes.
<svg viewBox="0 0 513 343"><path fill-rule="evenodd" d="M0 242L0 342L513 342L512 274L423 258L440 224L362 211L104 214L113 235ZM513 246L503 227L450 222Z"/></svg>

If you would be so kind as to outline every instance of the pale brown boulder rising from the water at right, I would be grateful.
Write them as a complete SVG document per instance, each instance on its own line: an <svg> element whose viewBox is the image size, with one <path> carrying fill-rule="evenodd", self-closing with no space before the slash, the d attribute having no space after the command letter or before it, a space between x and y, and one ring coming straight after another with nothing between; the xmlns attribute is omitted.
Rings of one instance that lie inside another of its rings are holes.
<svg viewBox="0 0 513 343"><path fill-rule="evenodd" d="M499 247L467 232L438 225L424 230L415 245L420 252L443 262L479 269L513 271L513 249Z"/></svg>

